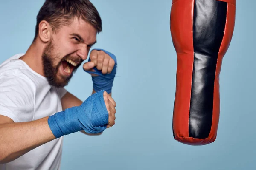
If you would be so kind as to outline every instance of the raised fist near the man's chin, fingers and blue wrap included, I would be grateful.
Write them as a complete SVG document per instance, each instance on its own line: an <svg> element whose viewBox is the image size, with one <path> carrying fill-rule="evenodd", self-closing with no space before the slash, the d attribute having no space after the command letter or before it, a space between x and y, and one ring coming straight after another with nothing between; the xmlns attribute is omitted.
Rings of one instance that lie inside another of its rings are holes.
<svg viewBox="0 0 256 170"><path fill-rule="evenodd" d="M86 64L94 63L93 69ZM111 93L113 81L116 75L116 56L103 49L93 49L88 62L84 64L84 71L92 74L93 89L97 92L105 90Z"/></svg>

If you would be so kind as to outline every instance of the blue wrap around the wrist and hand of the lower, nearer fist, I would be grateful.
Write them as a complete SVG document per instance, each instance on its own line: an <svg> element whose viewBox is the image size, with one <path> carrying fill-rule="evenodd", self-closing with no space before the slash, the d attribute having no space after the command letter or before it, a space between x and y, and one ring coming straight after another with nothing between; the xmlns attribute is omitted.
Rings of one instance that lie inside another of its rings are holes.
<svg viewBox="0 0 256 170"><path fill-rule="evenodd" d="M53 135L59 138L84 130L87 133L100 133L108 124L108 111L103 98L104 91L94 93L80 106L68 108L48 118Z"/></svg>

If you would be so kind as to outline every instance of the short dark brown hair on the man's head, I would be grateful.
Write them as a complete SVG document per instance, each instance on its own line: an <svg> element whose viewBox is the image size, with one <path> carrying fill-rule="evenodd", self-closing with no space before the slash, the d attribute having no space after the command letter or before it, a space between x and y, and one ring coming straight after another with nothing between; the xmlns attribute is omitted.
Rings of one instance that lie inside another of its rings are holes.
<svg viewBox="0 0 256 170"><path fill-rule="evenodd" d="M74 17L82 18L90 23L97 32L102 31L102 20L95 6L89 0L46 0L37 15L35 37L38 36L38 26L46 20L56 32L61 26L70 24Z"/></svg>

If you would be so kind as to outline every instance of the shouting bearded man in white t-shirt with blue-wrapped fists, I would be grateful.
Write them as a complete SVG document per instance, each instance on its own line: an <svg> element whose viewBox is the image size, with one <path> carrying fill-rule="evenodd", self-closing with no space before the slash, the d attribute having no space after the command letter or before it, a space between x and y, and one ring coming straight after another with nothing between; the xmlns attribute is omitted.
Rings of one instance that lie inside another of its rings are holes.
<svg viewBox="0 0 256 170"><path fill-rule="evenodd" d="M45 1L32 45L0 65L1 170L57 170L62 136L99 134L115 124L113 54L92 50L83 65L93 79L87 100L64 89L100 31L101 18L89 0Z"/></svg>

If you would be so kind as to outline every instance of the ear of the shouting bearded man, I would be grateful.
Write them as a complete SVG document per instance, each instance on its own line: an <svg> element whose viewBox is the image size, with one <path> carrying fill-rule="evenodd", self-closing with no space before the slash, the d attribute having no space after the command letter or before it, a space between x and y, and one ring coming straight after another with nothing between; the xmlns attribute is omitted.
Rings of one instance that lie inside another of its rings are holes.
<svg viewBox="0 0 256 170"><path fill-rule="evenodd" d="M39 23L38 27L38 36L41 39L41 41L49 42L52 36L52 27L50 26L50 24L47 21L42 20Z"/></svg>

